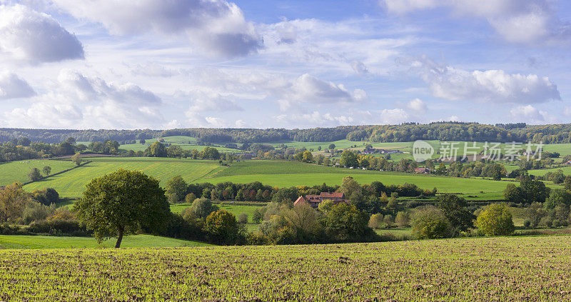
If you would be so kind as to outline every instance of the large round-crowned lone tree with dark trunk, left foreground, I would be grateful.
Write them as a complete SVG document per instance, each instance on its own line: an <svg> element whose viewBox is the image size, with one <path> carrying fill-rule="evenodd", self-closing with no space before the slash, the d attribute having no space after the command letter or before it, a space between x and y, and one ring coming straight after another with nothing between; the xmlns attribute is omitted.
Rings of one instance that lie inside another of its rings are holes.
<svg viewBox="0 0 571 302"><path fill-rule="evenodd" d="M141 226L156 229L171 212L158 180L123 168L92 179L74 210L98 242L116 236L116 248L123 235L133 234Z"/></svg>

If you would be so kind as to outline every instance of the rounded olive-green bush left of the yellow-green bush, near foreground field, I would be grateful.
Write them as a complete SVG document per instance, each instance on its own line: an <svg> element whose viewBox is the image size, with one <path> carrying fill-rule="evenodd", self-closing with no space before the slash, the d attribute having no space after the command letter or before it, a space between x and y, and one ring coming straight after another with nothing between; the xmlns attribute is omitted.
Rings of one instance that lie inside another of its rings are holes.
<svg viewBox="0 0 571 302"><path fill-rule="evenodd" d="M419 239L447 238L453 233L444 212L435 206L421 206L413 216L413 234Z"/></svg>

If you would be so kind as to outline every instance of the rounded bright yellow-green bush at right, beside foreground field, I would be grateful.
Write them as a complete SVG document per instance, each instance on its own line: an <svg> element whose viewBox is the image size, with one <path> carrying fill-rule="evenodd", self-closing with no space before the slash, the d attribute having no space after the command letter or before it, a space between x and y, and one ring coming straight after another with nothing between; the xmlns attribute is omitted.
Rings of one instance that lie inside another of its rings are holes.
<svg viewBox="0 0 571 302"><path fill-rule="evenodd" d="M515 231L512 214L503 203L492 203L480 212L476 227L485 236L511 235Z"/></svg>

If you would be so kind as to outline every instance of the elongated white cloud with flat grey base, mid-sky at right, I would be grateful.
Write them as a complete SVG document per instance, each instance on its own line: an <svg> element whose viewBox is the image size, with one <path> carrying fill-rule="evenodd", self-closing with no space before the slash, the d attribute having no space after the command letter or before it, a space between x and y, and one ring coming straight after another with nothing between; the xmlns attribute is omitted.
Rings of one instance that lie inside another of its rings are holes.
<svg viewBox="0 0 571 302"><path fill-rule="evenodd" d="M533 104L561 99L557 85L546 76L507 74L502 70L465 71L439 66L425 58L411 65L420 71L433 96L451 101Z"/></svg>

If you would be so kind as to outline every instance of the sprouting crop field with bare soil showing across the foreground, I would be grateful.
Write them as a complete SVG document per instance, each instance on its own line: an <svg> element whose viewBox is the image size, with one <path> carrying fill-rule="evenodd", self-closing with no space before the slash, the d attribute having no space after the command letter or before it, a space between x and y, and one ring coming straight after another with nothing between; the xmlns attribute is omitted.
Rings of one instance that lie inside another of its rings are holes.
<svg viewBox="0 0 571 302"><path fill-rule="evenodd" d="M571 236L0 251L4 301L570 301Z"/></svg>

